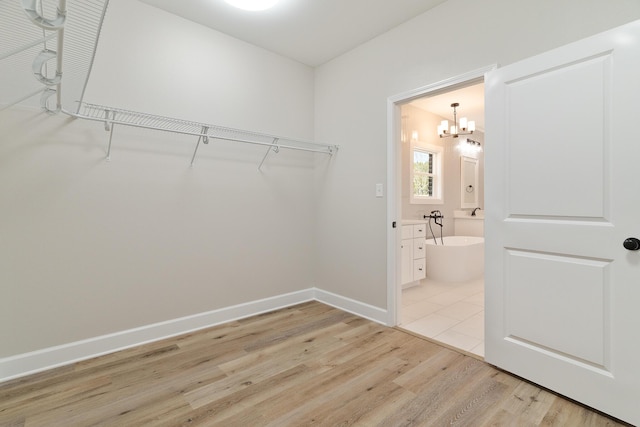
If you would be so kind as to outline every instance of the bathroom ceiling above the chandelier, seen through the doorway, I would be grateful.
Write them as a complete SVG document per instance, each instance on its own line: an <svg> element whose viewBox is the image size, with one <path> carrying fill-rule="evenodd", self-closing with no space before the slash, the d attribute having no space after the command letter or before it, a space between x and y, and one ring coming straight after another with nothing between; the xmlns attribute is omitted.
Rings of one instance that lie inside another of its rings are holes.
<svg viewBox="0 0 640 427"><path fill-rule="evenodd" d="M456 108L458 119L466 117L475 120L476 129L484 132L484 83L467 86L433 96L425 96L411 101L409 104L453 122L451 104L460 104Z"/></svg>

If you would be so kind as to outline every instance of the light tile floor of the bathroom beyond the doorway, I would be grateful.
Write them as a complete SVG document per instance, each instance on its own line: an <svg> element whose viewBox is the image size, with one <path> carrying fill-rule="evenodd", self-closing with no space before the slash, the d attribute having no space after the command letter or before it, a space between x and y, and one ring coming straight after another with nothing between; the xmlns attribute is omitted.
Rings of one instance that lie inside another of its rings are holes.
<svg viewBox="0 0 640 427"><path fill-rule="evenodd" d="M400 327L484 357L484 280L403 289Z"/></svg>

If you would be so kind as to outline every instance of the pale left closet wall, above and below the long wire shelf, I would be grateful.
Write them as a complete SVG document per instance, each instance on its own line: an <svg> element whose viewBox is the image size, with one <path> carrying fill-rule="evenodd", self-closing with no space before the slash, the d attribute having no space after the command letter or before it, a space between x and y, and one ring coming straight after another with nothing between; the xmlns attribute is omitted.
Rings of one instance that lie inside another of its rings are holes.
<svg viewBox="0 0 640 427"><path fill-rule="evenodd" d="M310 138L313 70L112 0L86 100ZM281 150L0 113L0 359L301 289L315 162ZM1 361L1 360L0 360ZM0 369L1 371L1 369ZM3 372L0 372L0 378Z"/></svg>

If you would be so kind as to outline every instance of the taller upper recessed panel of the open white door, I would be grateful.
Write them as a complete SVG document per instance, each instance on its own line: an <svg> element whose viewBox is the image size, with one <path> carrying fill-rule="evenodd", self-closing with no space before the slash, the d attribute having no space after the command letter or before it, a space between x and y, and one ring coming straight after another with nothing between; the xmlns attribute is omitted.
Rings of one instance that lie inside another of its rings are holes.
<svg viewBox="0 0 640 427"><path fill-rule="evenodd" d="M505 82L510 215L604 216L610 66L606 54Z"/></svg>

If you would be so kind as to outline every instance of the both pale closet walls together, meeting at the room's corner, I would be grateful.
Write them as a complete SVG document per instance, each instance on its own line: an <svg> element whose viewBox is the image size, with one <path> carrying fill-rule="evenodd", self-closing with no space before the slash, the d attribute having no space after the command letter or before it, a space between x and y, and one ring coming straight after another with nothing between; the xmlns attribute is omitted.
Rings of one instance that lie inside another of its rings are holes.
<svg viewBox="0 0 640 427"><path fill-rule="evenodd" d="M449 0L314 75L112 0L87 101L341 149L258 172L263 150L212 142L191 169L194 138L116 128L105 162L100 123L2 112L0 358L313 285L386 309L388 97L638 17L635 0Z"/></svg>

